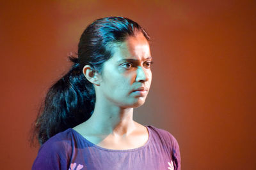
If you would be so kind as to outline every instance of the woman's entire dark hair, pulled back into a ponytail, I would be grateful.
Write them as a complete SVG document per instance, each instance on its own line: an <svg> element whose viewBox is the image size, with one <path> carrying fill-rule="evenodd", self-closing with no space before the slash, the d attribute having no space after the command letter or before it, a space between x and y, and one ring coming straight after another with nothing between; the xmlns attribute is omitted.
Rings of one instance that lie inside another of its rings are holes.
<svg viewBox="0 0 256 170"><path fill-rule="evenodd" d="M86 80L83 67L90 65L101 73L102 64L113 55L113 45L139 32L149 41L145 29L129 18L100 18L88 25L79 41L78 59L70 57L73 66L52 85L40 108L33 130L40 145L58 132L75 127L91 117L95 90L92 83Z"/></svg>

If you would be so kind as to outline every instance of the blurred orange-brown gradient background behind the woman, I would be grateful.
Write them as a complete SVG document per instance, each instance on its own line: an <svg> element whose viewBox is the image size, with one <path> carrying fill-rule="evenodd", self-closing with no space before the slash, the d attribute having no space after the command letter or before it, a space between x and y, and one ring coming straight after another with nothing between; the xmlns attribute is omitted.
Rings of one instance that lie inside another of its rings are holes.
<svg viewBox="0 0 256 170"><path fill-rule="evenodd" d="M177 138L182 169L256 169L256 1L0 6L1 169L31 168L38 148L29 128L45 91L67 71L86 25L110 15L132 18L152 37L152 87L134 118Z"/></svg>

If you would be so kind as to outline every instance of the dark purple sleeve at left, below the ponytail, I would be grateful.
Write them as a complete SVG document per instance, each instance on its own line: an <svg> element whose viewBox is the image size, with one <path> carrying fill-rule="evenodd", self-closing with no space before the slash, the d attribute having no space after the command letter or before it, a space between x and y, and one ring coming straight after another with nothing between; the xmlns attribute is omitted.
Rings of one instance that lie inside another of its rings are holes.
<svg viewBox="0 0 256 170"><path fill-rule="evenodd" d="M67 160L67 152L64 144L49 140L38 151L32 170L68 169Z"/></svg>

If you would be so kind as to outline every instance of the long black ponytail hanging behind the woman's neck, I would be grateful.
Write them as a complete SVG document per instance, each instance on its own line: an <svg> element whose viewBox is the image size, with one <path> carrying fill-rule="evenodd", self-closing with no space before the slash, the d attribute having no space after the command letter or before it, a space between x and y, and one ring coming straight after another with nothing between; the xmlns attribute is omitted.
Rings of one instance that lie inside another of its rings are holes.
<svg viewBox="0 0 256 170"><path fill-rule="evenodd" d="M95 105L95 90L86 80L77 58L65 76L47 92L35 124L40 145L58 132L75 127L91 117Z"/></svg>

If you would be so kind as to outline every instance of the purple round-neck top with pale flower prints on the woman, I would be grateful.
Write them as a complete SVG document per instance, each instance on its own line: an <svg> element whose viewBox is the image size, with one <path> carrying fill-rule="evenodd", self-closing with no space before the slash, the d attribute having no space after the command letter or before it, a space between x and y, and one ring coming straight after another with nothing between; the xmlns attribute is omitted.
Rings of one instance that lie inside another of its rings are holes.
<svg viewBox="0 0 256 170"><path fill-rule="evenodd" d="M147 129L147 143L130 150L102 148L67 129L41 146L32 169L180 170L179 145L172 134L150 125Z"/></svg>

